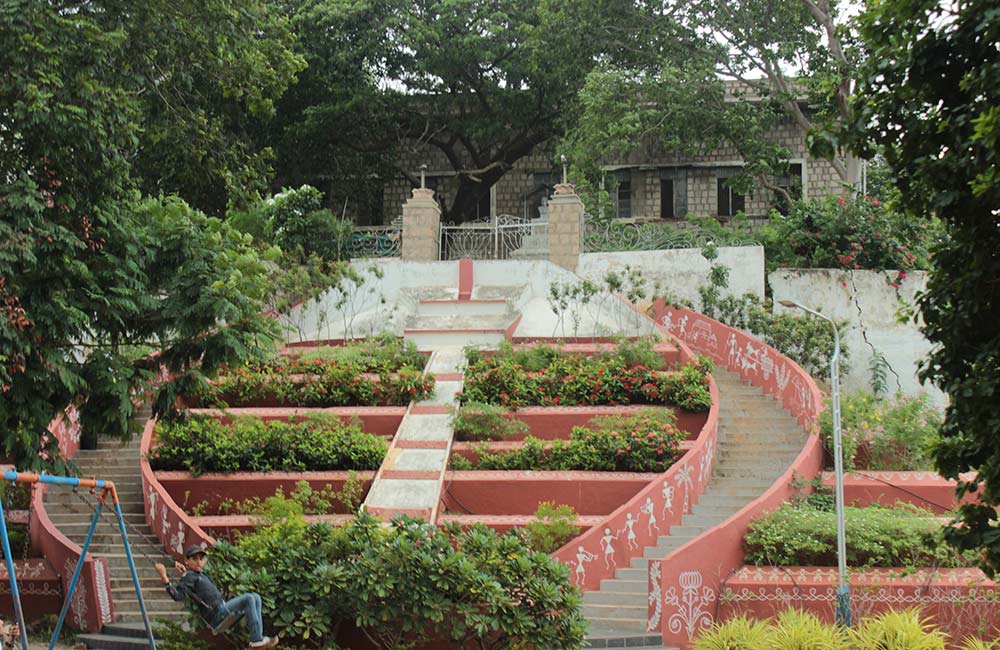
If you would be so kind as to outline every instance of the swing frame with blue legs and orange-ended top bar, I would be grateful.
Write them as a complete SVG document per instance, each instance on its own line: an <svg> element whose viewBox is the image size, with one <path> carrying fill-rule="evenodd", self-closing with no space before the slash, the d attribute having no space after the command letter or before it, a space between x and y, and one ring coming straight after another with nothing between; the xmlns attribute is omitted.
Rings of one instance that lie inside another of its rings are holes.
<svg viewBox="0 0 1000 650"><path fill-rule="evenodd" d="M132 574L132 584L135 586L135 595L139 599L139 612L142 614L143 625L146 626L146 636L149 639L150 650L156 650L156 641L153 639L153 628L149 624L149 615L146 613L146 603L142 599L142 590L139 587L139 575L135 570L135 561L132 559L132 547L128 542L128 533L125 532L125 517L122 515L121 504L118 502L118 491L112 481L99 481L97 479L79 479L73 476L49 476L48 474L31 474L26 472L13 472L5 470L3 479L14 483L43 483L46 485L62 485L68 487L85 487L91 490L100 490L101 495L97 500L97 507L94 508L94 517L90 522L90 529L87 531L87 539L83 542L80 551L80 559L73 570L73 578L69 582L66 590L66 600L63 601L62 610L59 612L59 620L56 621L56 629L52 633L52 640L49 642L49 650L54 650L56 641L59 640L59 633L62 631L66 614L69 613L70 597L76 590L76 583L80 579L83 570L83 561L87 558L87 549L90 548L90 541L94 537L94 530L101 516L101 510L108 495L111 496L111 503L114 506L115 516L118 518L118 530L122 534L122 543L125 545L125 557L128 560L128 568ZM7 519L3 510L3 503L0 503L0 543L3 544L3 552L7 562L7 575L10 576L10 595L14 601L14 615L17 618L17 625L20 629L21 650L28 650L27 627L24 624L24 611L21 609L21 594L17 588L17 576L14 574L14 559L10 553L10 538L7 535Z"/></svg>

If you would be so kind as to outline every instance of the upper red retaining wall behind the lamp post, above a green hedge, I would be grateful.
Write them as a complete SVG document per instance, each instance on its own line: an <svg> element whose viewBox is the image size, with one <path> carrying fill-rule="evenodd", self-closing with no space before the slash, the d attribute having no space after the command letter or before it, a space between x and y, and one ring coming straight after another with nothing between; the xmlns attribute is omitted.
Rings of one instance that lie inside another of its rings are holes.
<svg viewBox="0 0 1000 650"><path fill-rule="evenodd" d="M972 479L974 475L965 475ZM834 475L823 472L823 485L833 489ZM937 513L958 507L955 498L956 481L946 479L936 472L873 472L859 471L844 476L844 502L847 505L893 506L898 502L910 503ZM965 495L961 503L976 503L975 495Z"/></svg>

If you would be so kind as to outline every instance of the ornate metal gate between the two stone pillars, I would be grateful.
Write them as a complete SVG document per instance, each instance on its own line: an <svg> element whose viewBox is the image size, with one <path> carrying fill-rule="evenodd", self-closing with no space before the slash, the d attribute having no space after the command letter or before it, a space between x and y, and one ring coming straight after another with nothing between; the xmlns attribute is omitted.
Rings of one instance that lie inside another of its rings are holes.
<svg viewBox="0 0 1000 650"><path fill-rule="evenodd" d="M442 260L545 258L548 228L546 222L507 214L457 226L442 224L438 251Z"/></svg>

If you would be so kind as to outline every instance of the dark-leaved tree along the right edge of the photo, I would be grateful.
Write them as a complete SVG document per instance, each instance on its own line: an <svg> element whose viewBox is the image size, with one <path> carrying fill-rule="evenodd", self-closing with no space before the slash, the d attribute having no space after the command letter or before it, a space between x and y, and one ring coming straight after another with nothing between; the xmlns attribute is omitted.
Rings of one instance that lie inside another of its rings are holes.
<svg viewBox="0 0 1000 650"><path fill-rule="evenodd" d="M1000 8L995 0L881 0L862 16L870 48L841 133L862 154L881 146L913 218L939 216L950 237L920 296L935 344L922 371L948 394L938 469L978 490L947 538L1000 568Z"/></svg>

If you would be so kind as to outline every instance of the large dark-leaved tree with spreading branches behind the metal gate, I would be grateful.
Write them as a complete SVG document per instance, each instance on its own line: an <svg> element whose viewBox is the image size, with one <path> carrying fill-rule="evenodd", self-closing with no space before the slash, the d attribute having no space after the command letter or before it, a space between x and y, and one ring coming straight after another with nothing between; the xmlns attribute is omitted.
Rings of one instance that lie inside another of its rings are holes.
<svg viewBox="0 0 1000 650"><path fill-rule="evenodd" d="M280 182L329 189L336 176L367 170L416 186L414 170L399 163L429 146L457 177L443 218L459 221L572 122L590 69L636 45L637 30L617 26L641 9L624 0L284 6L310 67L282 102Z"/></svg>

